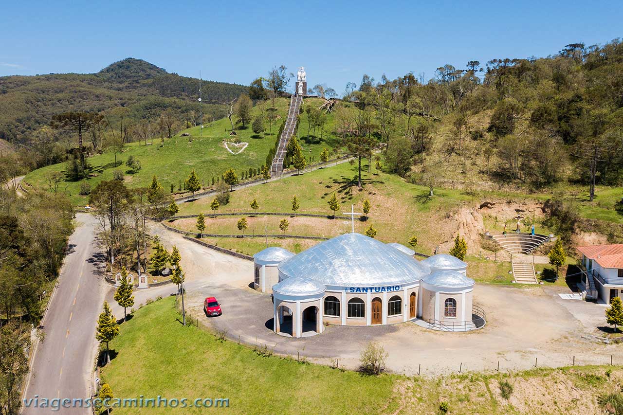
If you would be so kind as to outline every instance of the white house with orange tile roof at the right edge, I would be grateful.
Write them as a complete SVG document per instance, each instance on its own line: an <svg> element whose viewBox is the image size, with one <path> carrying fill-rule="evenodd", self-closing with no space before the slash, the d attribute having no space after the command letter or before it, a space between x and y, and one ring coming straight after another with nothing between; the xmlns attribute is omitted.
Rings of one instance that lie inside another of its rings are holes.
<svg viewBox="0 0 623 415"><path fill-rule="evenodd" d="M623 244L577 247L582 254L578 266L587 296L610 303L623 298Z"/></svg>

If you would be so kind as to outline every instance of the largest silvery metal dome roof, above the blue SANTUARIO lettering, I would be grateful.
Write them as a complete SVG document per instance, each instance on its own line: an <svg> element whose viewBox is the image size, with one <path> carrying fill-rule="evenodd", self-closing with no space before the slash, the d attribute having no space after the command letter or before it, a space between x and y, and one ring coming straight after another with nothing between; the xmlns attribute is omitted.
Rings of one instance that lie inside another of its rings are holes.
<svg viewBox="0 0 623 415"><path fill-rule="evenodd" d="M394 247L357 233L320 242L278 265L285 277L306 277L325 285L366 287L408 284L430 269Z"/></svg>

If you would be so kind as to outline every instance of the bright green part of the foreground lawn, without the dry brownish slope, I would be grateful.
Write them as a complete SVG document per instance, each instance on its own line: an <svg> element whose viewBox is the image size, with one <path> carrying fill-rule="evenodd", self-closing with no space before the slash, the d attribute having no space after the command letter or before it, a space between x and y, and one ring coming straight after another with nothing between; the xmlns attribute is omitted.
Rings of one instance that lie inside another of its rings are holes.
<svg viewBox="0 0 623 415"><path fill-rule="evenodd" d="M376 378L328 366L262 357L197 327L183 327L174 298L146 305L121 325L111 343L118 353L102 371L123 398L229 398L234 413L370 413L388 405L398 376ZM131 371L128 369L131 368ZM206 409L151 409L150 413L202 413ZM117 412L117 411L115 411ZM118 413L140 413L119 409Z"/></svg>

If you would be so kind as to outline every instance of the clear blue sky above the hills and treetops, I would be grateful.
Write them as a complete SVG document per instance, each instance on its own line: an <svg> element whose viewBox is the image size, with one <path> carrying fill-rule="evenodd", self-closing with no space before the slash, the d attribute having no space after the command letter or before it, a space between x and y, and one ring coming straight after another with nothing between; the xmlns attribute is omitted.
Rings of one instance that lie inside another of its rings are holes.
<svg viewBox="0 0 623 415"><path fill-rule="evenodd" d="M521 3L521 4L520 4ZM621 1L5 1L0 75L97 72L136 57L169 72L248 84L273 65L342 92L376 79L541 57L623 37Z"/></svg>

